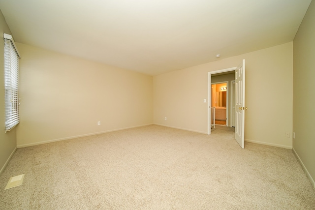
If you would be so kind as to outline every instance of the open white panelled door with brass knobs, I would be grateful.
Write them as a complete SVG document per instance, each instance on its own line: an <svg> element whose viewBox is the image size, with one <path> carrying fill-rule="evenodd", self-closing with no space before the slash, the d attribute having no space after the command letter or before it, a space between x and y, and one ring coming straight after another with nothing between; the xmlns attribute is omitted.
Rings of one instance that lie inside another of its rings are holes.
<svg viewBox="0 0 315 210"><path fill-rule="evenodd" d="M235 140L244 149L245 60L235 69Z"/></svg>

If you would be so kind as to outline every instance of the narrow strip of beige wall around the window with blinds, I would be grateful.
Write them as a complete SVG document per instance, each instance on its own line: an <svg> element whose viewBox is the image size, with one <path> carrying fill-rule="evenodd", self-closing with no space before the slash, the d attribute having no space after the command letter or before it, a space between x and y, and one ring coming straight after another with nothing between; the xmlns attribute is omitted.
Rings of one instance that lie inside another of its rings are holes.
<svg viewBox="0 0 315 210"><path fill-rule="evenodd" d="M5 133L5 111L4 111L4 42L3 33L11 34L8 25L0 11L0 34L2 38L0 39L0 173L4 170L10 155L14 153L16 149L16 128Z"/></svg>

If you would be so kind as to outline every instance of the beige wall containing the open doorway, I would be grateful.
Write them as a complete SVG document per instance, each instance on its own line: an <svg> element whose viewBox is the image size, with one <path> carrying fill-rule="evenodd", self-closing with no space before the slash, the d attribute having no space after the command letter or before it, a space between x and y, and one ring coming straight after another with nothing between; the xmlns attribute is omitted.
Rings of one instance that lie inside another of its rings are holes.
<svg viewBox="0 0 315 210"><path fill-rule="evenodd" d="M154 123L207 133L208 72L236 67L242 59L245 140L292 148L292 42L154 76Z"/></svg>

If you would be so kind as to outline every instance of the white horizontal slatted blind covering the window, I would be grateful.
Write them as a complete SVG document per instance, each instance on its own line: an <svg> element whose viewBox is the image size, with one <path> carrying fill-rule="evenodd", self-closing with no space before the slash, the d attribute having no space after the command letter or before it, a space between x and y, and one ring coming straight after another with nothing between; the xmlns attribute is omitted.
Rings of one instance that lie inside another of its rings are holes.
<svg viewBox="0 0 315 210"><path fill-rule="evenodd" d="M4 37L5 132L20 122L19 53L11 35Z"/></svg>

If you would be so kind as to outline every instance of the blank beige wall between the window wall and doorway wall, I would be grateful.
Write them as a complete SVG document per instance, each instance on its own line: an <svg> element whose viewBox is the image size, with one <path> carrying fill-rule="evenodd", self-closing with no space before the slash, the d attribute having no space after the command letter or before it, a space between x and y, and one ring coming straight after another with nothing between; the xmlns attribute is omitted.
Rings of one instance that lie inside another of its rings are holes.
<svg viewBox="0 0 315 210"><path fill-rule="evenodd" d="M18 147L153 123L152 76L17 46Z"/></svg>

